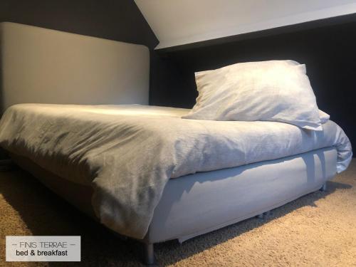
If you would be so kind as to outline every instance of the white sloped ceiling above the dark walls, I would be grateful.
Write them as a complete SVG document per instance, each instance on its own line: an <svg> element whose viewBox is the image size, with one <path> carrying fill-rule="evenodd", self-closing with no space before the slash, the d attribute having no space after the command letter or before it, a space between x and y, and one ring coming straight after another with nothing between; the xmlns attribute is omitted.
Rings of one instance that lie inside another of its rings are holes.
<svg viewBox="0 0 356 267"><path fill-rule="evenodd" d="M159 39L178 46L352 14L356 0L135 0Z"/></svg>

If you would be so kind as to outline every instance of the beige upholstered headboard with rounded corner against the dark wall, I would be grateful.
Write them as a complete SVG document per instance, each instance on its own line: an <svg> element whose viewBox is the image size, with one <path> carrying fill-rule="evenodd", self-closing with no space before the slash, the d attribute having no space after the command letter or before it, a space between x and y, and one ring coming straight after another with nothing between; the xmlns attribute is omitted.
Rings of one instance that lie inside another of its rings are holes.
<svg viewBox="0 0 356 267"><path fill-rule="evenodd" d="M0 23L1 109L16 103L148 104L145 46Z"/></svg>

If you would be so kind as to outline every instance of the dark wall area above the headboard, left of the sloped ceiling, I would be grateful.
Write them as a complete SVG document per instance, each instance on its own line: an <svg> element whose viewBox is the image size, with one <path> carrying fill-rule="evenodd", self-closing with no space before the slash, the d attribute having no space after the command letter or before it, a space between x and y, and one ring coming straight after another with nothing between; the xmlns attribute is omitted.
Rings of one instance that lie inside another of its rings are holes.
<svg viewBox="0 0 356 267"><path fill-rule="evenodd" d="M133 0L0 0L0 21L154 48L158 40Z"/></svg>

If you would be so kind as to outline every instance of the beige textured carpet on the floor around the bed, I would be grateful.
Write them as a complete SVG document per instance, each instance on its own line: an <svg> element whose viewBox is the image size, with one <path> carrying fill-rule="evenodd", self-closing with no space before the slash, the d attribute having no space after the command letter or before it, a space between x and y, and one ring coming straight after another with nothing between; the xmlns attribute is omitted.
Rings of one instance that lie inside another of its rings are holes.
<svg viewBox="0 0 356 267"><path fill-rule="evenodd" d="M80 235L82 263L6 263L6 235ZM0 266L142 266L122 241L25 172L0 172ZM180 245L156 246L158 266L356 266L356 160L315 192Z"/></svg>

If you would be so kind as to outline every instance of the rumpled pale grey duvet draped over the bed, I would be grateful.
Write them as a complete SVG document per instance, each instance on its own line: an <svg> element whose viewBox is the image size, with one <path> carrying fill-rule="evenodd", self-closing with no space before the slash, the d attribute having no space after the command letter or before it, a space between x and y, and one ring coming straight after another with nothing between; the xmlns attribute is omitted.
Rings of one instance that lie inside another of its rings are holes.
<svg viewBox="0 0 356 267"><path fill-rule="evenodd" d="M185 120L189 110L142 105L14 105L0 122L0 145L94 189L100 221L142 239L164 185L194 172L337 148L337 172L352 157L342 129L282 122Z"/></svg>

